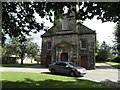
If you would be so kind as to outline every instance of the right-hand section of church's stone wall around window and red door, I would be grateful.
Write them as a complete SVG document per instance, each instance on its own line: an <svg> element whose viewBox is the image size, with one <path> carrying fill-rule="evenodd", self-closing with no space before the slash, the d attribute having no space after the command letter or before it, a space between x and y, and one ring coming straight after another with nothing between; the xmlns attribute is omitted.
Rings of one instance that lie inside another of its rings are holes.
<svg viewBox="0 0 120 90"><path fill-rule="evenodd" d="M86 39L87 40L87 49L82 50L82 49L79 48L80 49L79 55L80 56L82 56L84 54L88 55L90 69L94 69L95 68L96 35L94 35L94 34L80 35L79 41L81 39Z"/></svg>

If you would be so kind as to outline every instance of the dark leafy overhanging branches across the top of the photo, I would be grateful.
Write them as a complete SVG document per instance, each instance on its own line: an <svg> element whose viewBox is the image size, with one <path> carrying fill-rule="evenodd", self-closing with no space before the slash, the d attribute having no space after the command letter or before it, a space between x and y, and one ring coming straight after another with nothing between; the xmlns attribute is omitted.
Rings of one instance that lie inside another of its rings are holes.
<svg viewBox="0 0 120 90"><path fill-rule="evenodd" d="M78 12L76 4L80 7ZM2 42L5 34L17 37L43 30L44 24L36 22L34 13L37 12L42 18L48 16L53 22L52 11L57 19L64 12L64 6L69 8L68 14L73 10L78 20L92 19L97 15L103 22L120 21L120 2L2 2Z"/></svg>

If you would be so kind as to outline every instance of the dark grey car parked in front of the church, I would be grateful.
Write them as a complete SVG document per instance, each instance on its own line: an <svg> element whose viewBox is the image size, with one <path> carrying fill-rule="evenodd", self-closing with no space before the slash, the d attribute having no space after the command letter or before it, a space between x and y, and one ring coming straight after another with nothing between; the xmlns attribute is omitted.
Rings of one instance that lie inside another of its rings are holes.
<svg viewBox="0 0 120 90"><path fill-rule="evenodd" d="M55 62L49 65L49 70L52 74L60 73L67 74L70 76L84 76L86 74L86 69L79 67L72 62Z"/></svg>

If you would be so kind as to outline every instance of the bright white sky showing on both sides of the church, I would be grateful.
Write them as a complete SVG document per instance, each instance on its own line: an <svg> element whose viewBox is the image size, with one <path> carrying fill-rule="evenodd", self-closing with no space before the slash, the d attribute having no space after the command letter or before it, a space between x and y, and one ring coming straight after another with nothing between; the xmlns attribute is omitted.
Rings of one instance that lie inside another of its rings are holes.
<svg viewBox="0 0 120 90"><path fill-rule="evenodd" d="M36 20L37 22L42 22L41 18L36 14ZM45 20L45 26L52 27L52 23L50 23L48 20ZM114 30L116 23L113 22L104 22L102 23L101 20L97 20L96 17L94 17L92 20L86 20L83 22L83 25L87 26L88 28L95 30L97 33L97 40L101 44L103 41L105 41L109 45L113 45L114 40ZM37 34L33 34L31 37L33 38L33 42L37 43L41 48L41 35L44 34L44 31L40 31Z"/></svg>

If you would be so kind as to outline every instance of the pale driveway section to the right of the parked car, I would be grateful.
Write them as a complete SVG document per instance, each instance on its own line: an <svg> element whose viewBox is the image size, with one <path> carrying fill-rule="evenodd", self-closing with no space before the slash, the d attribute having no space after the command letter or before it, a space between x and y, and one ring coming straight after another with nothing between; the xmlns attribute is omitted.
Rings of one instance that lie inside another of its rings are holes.
<svg viewBox="0 0 120 90"><path fill-rule="evenodd" d="M102 82L120 88L120 69L105 63L96 63L96 69L87 70L87 74L84 77L80 77L80 79Z"/></svg>

